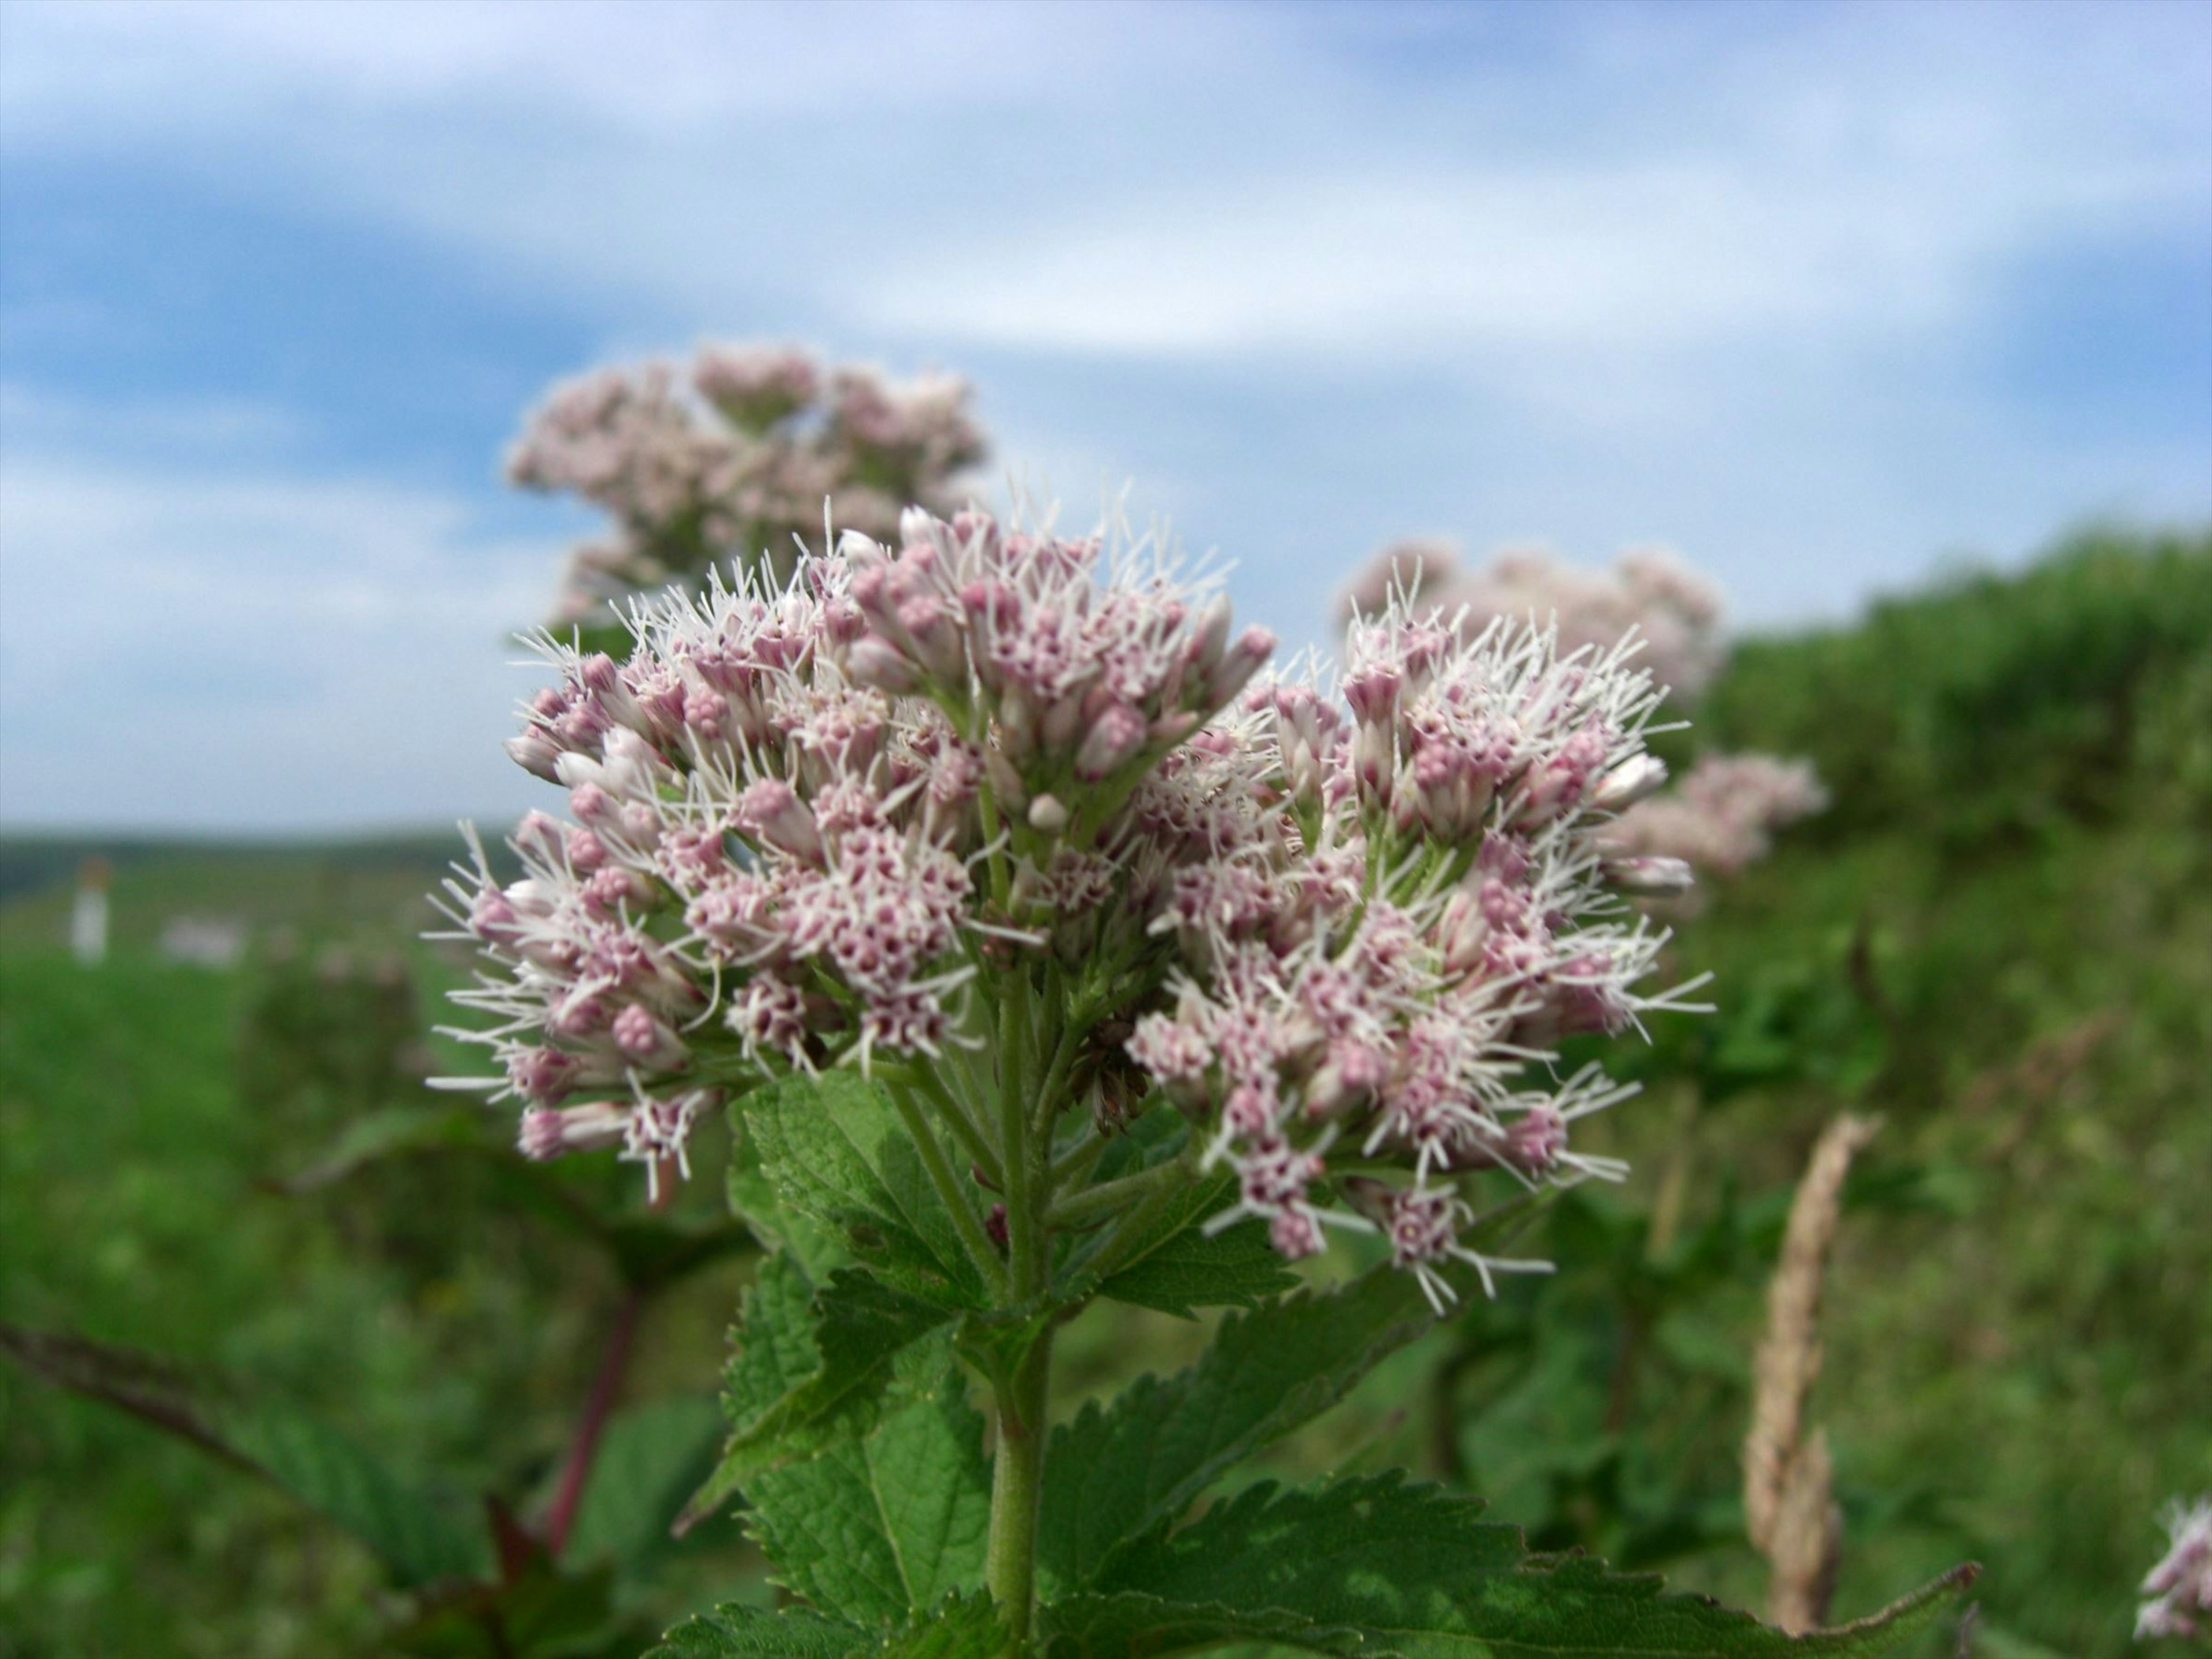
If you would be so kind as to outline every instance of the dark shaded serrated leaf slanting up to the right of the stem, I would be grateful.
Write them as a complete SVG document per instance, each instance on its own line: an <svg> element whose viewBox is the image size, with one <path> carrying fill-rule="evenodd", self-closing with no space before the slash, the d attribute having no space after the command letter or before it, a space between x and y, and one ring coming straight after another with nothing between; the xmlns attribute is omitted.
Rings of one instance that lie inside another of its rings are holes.
<svg viewBox="0 0 2212 1659"><path fill-rule="evenodd" d="M1091 1584L1115 1544L1181 1515L1433 1323L1411 1274L1376 1267L1336 1292L1232 1314L1188 1371L1084 1407L1046 1449L1040 1582L1048 1593Z"/></svg>

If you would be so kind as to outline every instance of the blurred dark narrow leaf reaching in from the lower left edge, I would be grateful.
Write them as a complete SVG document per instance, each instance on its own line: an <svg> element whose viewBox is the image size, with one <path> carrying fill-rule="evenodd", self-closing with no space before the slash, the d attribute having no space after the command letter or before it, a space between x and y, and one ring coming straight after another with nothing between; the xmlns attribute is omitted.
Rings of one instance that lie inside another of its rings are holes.
<svg viewBox="0 0 2212 1659"><path fill-rule="evenodd" d="M305 1411L241 1402L175 1365L64 1332L0 1325L0 1352L281 1486L367 1544L400 1588L489 1566L471 1526Z"/></svg>

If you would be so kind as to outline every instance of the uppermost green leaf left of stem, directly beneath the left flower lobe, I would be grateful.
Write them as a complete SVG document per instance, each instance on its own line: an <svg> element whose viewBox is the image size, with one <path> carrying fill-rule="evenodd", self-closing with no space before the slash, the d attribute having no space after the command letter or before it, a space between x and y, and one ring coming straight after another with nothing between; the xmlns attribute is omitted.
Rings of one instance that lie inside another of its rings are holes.
<svg viewBox="0 0 2212 1659"><path fill-rule="evenodd" d="M898 1108L865 1077L785 1077L739 1102L779 1203L827 1225L911 1296L984 1307L975 1263L953 1230Z"/></svg>

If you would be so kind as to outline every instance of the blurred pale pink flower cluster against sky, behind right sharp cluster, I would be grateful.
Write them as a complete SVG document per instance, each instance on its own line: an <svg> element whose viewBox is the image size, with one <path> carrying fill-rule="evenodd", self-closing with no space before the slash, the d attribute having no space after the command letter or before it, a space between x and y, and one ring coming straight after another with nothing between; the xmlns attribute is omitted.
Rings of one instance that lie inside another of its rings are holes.
<svg viewBox="0 0 2212 1659"><path fill-rule="evenodd" d="M1444 540L1394 542L1360 566L1338 606L1345 619L1374 615L1394 588L1482 628L1491 617L1557 622L1559 648L1608 650L1635 628L1644 666L1677 701L1694 701L1728 659L1721 593L1663 549L1628 549L1610 571L1582 571L1544 549L1500 549L1489 564L1460 568Z"/></svg>

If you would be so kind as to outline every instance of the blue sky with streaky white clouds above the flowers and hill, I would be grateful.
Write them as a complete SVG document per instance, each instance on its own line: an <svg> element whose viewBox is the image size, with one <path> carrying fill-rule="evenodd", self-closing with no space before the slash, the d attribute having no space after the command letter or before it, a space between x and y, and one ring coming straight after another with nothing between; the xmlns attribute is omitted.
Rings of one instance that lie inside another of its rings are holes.
<svg viewBox="0 0 2212 1659"><path fill-rule="evenodd" d="M500 818L553 376L980 387L1323 635L1400 533L1747 626L2212 518L2212 4L0 0L0 823Z"/></svg>

